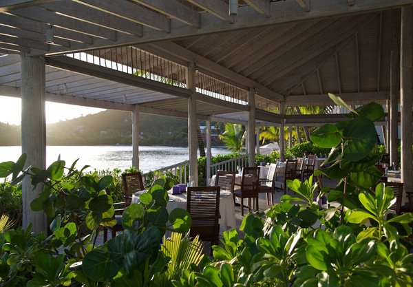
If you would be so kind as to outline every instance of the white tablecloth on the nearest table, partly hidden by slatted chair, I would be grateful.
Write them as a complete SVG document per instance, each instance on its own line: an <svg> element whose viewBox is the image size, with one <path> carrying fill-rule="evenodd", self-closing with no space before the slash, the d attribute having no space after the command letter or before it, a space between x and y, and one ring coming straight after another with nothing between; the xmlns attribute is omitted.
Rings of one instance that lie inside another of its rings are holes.
<svg viewBox="0 0 413 287"><path fill-rule="evenodd" d="M132 203L139 202L139 195L146 191L138 191L132 195ZM172 194L172 191L168 191L169 201L167 205L167 211L171 213L173 209L187 209L187 193ZM220 192L220 224L227 227L235 228L235 205L233 195L229 191Z"/></svg>

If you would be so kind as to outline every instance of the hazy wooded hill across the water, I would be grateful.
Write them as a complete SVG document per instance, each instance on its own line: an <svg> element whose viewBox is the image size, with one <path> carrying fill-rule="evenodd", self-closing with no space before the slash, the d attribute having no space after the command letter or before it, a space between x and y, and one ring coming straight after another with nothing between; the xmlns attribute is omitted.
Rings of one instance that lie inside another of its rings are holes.
<svg viewBox="0 0 413 287"><path fill-rule="evenodd" d="M140 145L188 145L184 118L140 114ZM128 111L106 110L47 125L47 145L131 145ZM0 145L21 145L21 127L0 123Z"/></svg>

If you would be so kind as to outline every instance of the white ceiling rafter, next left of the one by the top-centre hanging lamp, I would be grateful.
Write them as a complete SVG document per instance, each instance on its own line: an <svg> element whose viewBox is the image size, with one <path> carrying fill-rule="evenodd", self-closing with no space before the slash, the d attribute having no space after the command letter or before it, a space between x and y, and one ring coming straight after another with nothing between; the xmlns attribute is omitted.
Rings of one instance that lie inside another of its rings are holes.
<svg viewBox="0 0 413 287"><path fill-rule="evenodd" d="M183 23L201 27L201 17L198 12L176 0L133 0L134 2L156 10Z"/></svg>

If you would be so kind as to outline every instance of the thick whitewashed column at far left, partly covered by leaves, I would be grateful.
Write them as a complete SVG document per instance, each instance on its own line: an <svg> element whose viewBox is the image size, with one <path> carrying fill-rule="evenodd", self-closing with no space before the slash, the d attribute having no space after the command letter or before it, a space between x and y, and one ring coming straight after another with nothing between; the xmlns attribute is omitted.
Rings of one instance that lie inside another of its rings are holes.
<svg viewBox="0 0 413 287"><path fill-rule="evenodd" d="M28 155L28 166L45 169L45 58L21 54L21 149ZM17 159L16 159L17 160ZM32 191L30 177L23 180L23 228L32 223L35 234L47 231L43 211L32 211L30 203L39 198L41 184Z"/></svg>

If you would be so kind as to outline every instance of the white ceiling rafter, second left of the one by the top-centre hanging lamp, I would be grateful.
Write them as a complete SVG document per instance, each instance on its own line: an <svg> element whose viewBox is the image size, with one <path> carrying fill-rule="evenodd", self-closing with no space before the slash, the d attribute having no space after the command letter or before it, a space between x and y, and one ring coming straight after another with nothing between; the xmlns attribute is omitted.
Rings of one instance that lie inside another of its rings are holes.
<svg viewBox="0 0 413 287"><path fill-rule="evenodd" d="M125 0L116 0L116 5L112 0L75 0L76 2L87 4L94 9L114 14L118 17L134 21L147 27L171 32L171 21L165 15L153 12L143 6Z"/></svg>

